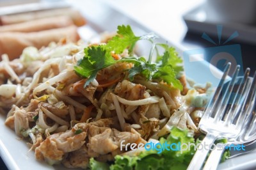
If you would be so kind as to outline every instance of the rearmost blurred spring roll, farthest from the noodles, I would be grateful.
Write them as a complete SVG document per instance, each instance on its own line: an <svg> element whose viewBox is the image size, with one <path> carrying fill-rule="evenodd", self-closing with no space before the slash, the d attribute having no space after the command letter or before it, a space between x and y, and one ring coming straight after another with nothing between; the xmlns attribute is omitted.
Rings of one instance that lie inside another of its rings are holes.
<svg viewBox="0 0 256 170"><path fill-rule="evenodd" d="M47 17L54 17L60 15L66 15L70 17L73 20L74 24L76 24L76 26L83 26L84 24L86 24L86 20L81 15L81 13L72 8L61 8L55 10L42 10L37 12L3 15L0 17L0 22L2 25L9 25L17 24L20 22L27 22L29 20L43 19Z"/></svg>

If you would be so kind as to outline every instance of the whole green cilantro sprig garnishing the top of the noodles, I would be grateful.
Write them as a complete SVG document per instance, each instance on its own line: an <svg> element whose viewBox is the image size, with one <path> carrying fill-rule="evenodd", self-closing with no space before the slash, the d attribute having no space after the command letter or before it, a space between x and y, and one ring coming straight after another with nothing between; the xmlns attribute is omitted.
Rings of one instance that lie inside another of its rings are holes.
<svg viewBox="0 0 256 170"><path fill-rule="evenodd" d="M88 78L84 87L88 86L102 68L106 68L118 62L133 63L134 66L128 70L128 78L133 81L135 75L142 75L147 80L163 81L182 90L182 84L176 79L177 73L183 70L182 59L179 58L173 47L166 44L156 44L165 50L163 56L157 54L157 63L151 63L151 59L133 56L136 42L139 40L153 40L157 38L154 34L135 36L130 26L118 26L117 35L106 43L106 45L92 45L84 48L84 58L77 62L74 70L77 75ZM111 53L121 54L128 49L129 58L114 59ZM157 50L158 51L158 50Z"/></svg>

